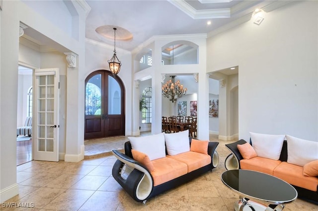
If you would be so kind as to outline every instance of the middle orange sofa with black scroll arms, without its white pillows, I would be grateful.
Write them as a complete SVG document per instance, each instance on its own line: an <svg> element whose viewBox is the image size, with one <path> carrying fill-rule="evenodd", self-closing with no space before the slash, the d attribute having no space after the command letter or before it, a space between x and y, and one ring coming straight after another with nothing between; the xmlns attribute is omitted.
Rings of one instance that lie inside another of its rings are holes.
<svg viewBox="0 0 318 211"><path fill-rule="evenodd" d="M149 136L147 143L151 141L152 136ZM118 159L112 175L135 201L146 203L148 199L217 167L219 156L216 148L219 142L206 141L207 147L201 153L192 150L191 145L194 146L195 141L197 144L199 140L187 137L189 151L169 155L165 149L164 157L153 160L149 160L144 153L136 154L131 141L127 141L125 154L118 150L112 151Z"/></svg>

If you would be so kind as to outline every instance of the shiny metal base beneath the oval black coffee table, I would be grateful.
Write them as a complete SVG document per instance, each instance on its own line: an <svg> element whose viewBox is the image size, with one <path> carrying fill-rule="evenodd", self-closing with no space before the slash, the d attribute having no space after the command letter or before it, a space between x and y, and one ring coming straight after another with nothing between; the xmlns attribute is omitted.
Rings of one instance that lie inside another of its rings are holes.
<svg viewBox="0 0 318 211"><path fill-rule="evenodd" d="M263 205L247 198L242 198L234 204L235 211L282 211L285 205Z"/></svg>

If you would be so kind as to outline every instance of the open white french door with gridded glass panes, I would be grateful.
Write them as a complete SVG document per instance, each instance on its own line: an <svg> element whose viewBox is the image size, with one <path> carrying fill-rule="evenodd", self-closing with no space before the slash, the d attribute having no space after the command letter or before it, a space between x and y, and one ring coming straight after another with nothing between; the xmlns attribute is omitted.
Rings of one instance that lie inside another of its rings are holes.
<svg viewBox="0 0 318 211"><path fill-rule="evenodd" d="M34 160L59 161L58 68L34 72Z"/></svg>

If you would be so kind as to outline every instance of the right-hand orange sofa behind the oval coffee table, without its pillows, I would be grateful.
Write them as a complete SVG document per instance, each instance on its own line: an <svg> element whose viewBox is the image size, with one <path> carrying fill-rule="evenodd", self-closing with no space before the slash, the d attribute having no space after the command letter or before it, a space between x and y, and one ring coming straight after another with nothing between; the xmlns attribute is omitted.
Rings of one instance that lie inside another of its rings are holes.
<svg viewBox="0 0 318 211"><path fill-rule="evenodd" d="M226 147L232 152L225 160L227 170L247 169L278 177L291 184L297 190L299 198L318 202L318 175L305 176L305 166L303 167L288 162L287 140L283 141L279 160L259 157L257 155L248 159L245 157L244 159L239 151L238 145L242 146L245 143L246 141L241 139L237 142L226 144ZM250 140L249 144L252 145L252 140ZM316 162L316 165L317 161L314 162Z"/></svg>

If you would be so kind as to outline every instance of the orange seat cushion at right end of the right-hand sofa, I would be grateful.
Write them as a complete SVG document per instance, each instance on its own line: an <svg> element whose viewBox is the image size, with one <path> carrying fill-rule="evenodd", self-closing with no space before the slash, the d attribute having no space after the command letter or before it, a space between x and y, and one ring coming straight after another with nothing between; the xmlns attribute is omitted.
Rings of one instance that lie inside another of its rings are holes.
<svg viewBox="0 0 318 211"><path fill-rule="evenodd" d="M291 185L317 192L318 178L303 175L303 167L282 162L274 170L273 176L278 177Z"/></svg>

